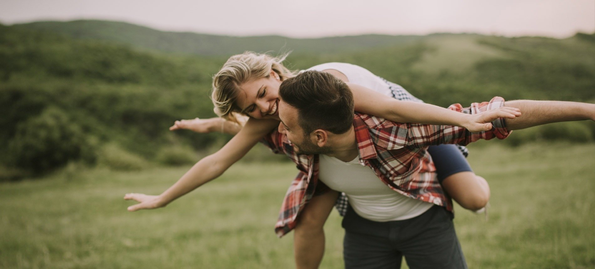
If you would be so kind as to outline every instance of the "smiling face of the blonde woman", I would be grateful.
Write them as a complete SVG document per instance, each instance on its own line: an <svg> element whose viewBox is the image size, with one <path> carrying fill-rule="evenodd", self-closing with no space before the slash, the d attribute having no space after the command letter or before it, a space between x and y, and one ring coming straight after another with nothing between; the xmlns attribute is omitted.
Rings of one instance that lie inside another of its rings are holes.
<svg viewBox="0 0 595 269"><path fill-rule="evenodd" d="M236 102L242 114L255 119L279 119L280 85L279 75L272 70L268 77L241 84Z"/></svg>

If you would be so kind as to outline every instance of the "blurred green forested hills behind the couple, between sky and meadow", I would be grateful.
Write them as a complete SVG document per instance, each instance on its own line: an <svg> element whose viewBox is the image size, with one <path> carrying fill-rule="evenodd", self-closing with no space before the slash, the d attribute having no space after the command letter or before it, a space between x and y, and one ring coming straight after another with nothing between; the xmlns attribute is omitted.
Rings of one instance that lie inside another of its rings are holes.
<svg viewBox="0 0 595 269"><path fill-rule="evenodd" d="M567 39L290 39L173 33L114 21L0 24L0 179L73 162L128 163L123 169L192 162L195 150L229 137L168 127L177 119L215 116L211 77L229 56L245 50L292 51L286 64L293 69L323 62L361 65L439 106L496 95L595 102L595 33ZM546 135L527 133L511 143L592 141L595 135L592 122L549 128Z"/></svg>

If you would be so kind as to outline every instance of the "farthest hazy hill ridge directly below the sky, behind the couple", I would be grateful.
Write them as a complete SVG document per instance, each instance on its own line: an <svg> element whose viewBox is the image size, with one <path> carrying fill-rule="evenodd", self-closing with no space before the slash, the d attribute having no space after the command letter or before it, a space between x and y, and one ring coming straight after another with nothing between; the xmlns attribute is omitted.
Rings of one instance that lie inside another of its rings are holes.
<svg viewBox="0 0 595 269"><path fill-rule="evenodd" d="M293 39L283 36L233 37L212 34L180 33L150 29L117 21L38 21L15 26L55 31L75 39L108 40L138 48L197 55L233 55L245 50L256 52L293 50L298 53L354 52L362 49L397 45L421 36L363 36Z"/></svg>

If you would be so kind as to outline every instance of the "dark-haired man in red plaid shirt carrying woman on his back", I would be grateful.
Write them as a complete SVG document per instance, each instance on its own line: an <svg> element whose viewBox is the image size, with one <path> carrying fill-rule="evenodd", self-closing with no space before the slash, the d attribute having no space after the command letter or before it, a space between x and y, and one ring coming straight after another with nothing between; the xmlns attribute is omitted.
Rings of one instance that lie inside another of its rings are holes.
<svg viewBox="0 0 595 269"><path fill-rule="evenodd" d="M595 118L591 104L505 103L500 97L469 109L450 107L483 112L486 117L505 116L513 111L510 107L521 109L520 118L507 120L506 125L497 119L491 131L480 134L455 126L398 124L360 113L354 117L346 84L317 71L284 81L280 98L281 124L266 144L287 154L301 172L287 191L275 229L282 236L296 227L310 201L324 206L308 216L324 221L330 211L327 205L336 197L327 186L345 192L350 201L343 219L346 268L398 268L403 255L411 268L466 268L452 224L452 203L435 180L427 145L502 139L513 129ZM311 205L307 211L316 211ZM296 243L296 254L306 243ZM315 266L320 258L314 260Z"/></svg>

